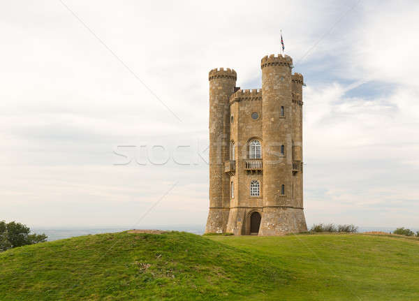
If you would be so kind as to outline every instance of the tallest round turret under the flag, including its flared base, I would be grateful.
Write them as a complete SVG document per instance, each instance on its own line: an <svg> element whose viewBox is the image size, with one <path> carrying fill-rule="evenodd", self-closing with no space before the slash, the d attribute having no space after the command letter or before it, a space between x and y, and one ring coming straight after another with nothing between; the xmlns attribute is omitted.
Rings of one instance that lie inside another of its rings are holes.
<svg viewBox="0 0 419 301"><path fill-rule="evenodd" d="M293 199L293 76L291 57L263 57L263 214L259 235L300 232L304 215Z"/></svg>

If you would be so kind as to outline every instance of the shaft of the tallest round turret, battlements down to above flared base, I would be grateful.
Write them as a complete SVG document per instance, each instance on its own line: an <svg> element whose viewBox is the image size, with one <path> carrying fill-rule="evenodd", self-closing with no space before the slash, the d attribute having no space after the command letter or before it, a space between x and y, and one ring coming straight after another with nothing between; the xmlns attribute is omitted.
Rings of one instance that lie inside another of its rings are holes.
<svg viewBox="0 0 419 301"><path fill-rule="evenodd" d="M261 62L264 207L285 206L289 195L290 185L286 175L290 167L286 155L281 153L281 147L284 145L286 148L291 131L288 122L291 121L292 64L291 57L282 57L281 54L263 57Z"/></svg>

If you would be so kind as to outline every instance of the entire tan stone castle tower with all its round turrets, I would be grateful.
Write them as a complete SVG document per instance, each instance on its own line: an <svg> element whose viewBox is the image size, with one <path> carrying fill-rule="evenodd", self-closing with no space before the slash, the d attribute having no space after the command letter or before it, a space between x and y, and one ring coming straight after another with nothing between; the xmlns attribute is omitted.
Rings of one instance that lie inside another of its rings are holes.
<svg viewBox="0 0 419 301"><path fill-rule="evenodd" d="M262 89L210 71L210 212L205 233L307 231L302 205L302 85L293 61L263 57Z"/></svg>

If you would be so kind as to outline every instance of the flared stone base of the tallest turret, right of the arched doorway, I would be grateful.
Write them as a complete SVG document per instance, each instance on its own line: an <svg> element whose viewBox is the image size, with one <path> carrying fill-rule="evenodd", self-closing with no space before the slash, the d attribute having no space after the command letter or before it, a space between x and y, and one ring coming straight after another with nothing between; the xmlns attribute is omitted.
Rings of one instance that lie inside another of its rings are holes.
<svg viewBox="0 0 419 301"><path fill-rule="evenodd" d="M307 232L302 208L264 207L259 235L284 235Z"/></svg>

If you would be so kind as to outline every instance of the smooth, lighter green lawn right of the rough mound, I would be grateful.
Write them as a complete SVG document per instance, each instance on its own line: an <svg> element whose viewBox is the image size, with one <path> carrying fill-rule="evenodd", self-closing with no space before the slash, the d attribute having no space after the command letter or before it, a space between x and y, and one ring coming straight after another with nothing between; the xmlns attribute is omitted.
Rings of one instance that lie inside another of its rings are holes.
<svg viewBox="0 0 419 301"><path fill-rule="evenodd" d="M228 239L226 239L228 238ZM383 235L214 237L269 256L293 275L255 300L419 300L419 240Z"/></svg>

